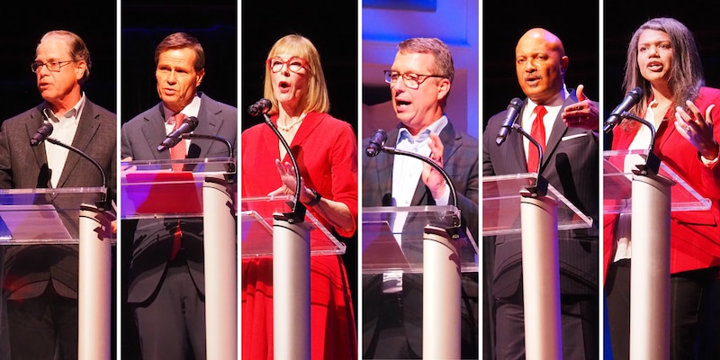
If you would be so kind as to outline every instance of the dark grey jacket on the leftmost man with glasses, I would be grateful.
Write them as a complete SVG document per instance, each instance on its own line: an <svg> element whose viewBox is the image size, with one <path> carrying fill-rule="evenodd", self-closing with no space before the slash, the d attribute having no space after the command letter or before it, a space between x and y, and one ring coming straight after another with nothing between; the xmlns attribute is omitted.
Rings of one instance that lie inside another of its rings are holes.
<svg viewBox="0 0 720 360"><path fill-rule="evenodd" d="M48 188L50 174L45 155L45 142L30 146L32 135L40 128L42 109L47 103L23 112L3 122L0 130L0 188ZM68 144L69 145L69 144ZM114 113L85 100L85 107L77 125L73 147L85 152L103 167L108 199L115 194L117 166L117 118ZM103 178L87 159L73 151L67 154L58 187L101 186ZM80 202L99 199L80 199L59 195L53 199L59 209L78 208ZM92 203L92 202L91 202ZM58 211L64 218L71 236L78 236L76 211ZM66 216L67 215L67 216ZM76 245L38 245L2 247L5 250L4 292L13 298L40 295L52 281L56 291L66 297L77 297ZM20 291L20 292L18 292Z"/></svg>

